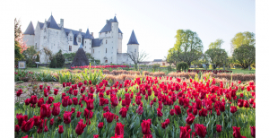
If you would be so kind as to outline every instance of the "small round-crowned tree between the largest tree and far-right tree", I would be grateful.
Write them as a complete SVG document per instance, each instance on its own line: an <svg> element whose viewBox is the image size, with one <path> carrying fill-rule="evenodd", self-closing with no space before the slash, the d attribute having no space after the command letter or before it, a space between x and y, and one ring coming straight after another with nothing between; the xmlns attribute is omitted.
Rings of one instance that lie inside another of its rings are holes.
<svg viewBox="0 0 269 138"><path fill-rule="evenodd" d="M218 47L209 48L205 51L205 54L210 58L210 62L213 65L213 69L216 69L217 66L221 65L225 59L228 58L228 54L225 49Z"/></svg>

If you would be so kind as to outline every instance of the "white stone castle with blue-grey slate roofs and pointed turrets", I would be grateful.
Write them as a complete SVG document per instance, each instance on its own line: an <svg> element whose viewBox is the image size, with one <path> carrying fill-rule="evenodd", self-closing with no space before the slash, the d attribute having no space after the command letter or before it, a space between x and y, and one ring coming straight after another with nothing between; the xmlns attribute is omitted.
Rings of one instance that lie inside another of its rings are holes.
<svg viewBox="0 0 269 138"><path fill-rule="evenodd" d="M139 54L139 43L134 30L127 44L127 53L122 53L123 32L118 28L116 16L106 21L106 25L99 32L99 38L96 39L89 29L82 32L81 29L64 28L64 19L57 24L52 15L48 21L38 22L36 29L30 22L23 34L23 40L26 41L27 46L34 46L40 52L40 63L49 62L44 53L44 47L52 51L52 54L56 54L60 49L64 54L76 52L82 45L85 53L90 53L94 59L100 60L100 64L134 65L127 53L136 57Z"/></svg>

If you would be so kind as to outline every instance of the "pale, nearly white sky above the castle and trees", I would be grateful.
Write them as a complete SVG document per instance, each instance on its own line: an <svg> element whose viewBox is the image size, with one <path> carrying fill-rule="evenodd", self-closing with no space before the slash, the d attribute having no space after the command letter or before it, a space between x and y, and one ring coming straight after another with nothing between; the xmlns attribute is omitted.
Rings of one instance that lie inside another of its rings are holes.
<svg viewBox="0 0 269 138"><path fill-rule="evenodd" d="M50 14L57 23L64 19L65 28L72 30L89 28L94 38L116 15L123 32L123 52L134 30L140 51L149 54L145 59L165 59L174 47L177 30L192 30L204 45L204 52L211 42L222 39L222 48L230 54L230 40L238 33L256 33L255 0L136 0L136 1L29 1L17 2L20 6L14 18L22 22L22 31L30 21L48 20Z"/></svg>

